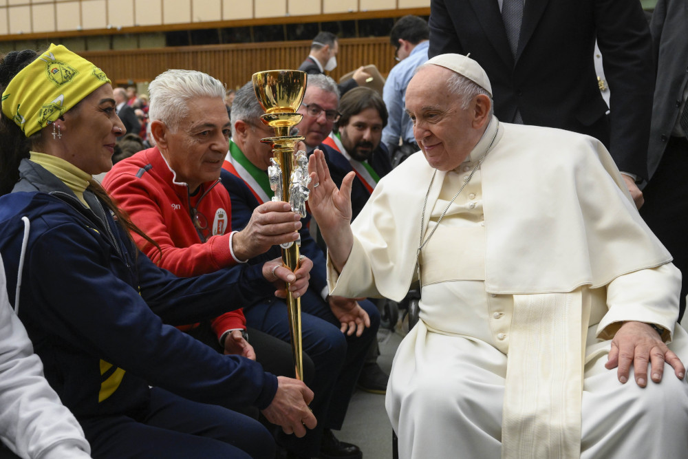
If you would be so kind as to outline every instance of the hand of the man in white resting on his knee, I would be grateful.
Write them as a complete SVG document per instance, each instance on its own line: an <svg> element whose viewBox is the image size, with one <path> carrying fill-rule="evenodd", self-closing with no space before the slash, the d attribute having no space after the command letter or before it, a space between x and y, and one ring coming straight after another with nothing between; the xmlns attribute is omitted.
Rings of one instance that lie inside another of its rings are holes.
<svg viewBox="0 0 688 459"><path fill-rule="evenodd" d="M647 385L647 363L650 363L652 381L659 383L664 374L664 363L674 367L674 373L679 379L685 375L685 367L678 356L674 354L662 341L654 328L643 322L625 322L614 334L612 350L605 367L611 370L619 367L616 374L624 384L628 381L631 364L640 387Z"/></svg>

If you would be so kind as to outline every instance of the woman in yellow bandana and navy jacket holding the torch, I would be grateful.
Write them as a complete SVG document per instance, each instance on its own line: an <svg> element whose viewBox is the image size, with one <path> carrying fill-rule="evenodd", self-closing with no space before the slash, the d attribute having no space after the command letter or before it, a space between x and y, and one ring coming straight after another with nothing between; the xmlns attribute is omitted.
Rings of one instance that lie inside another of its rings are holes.
<svg viewBox="0 0 688 459"><path fill-rule="evenodd" d="M124 134L107 76L51 45L5 56L0 89L0 254L10 303L92 456L272 458L265 427L204 403L254 405L298 436L314 427L313 394L301 381L278 380L161 321L216 317L246 297L283 295L284 281L302 293L310 265L294 275L273 260L189 279L160 270L92 180L111 168Z"/></svg>

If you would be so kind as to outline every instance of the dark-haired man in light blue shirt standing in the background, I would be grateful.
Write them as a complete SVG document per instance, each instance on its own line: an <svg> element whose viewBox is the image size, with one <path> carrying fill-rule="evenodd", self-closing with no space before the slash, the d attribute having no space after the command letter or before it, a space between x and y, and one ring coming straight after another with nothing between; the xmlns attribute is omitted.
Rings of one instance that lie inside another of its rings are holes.
<svg viewBox="0 0 688 459"><path fill-rule="evenodd" d="M383 88L383 100L389 111L383 142L395 165L419 150L413 138L413 122L406 113L406 87L416 68L428 60L429 37L427 21L410 14L396 21L389 32L394 58L399 63L389 71Z"/></svg>

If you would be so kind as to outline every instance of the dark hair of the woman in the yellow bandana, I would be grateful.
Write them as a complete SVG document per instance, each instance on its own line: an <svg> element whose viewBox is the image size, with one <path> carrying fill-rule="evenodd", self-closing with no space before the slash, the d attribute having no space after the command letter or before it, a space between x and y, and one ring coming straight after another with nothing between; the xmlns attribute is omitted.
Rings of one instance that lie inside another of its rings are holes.
<svg viewBox="0 0 688 459"><path fill-rule="evenodd" d="M0 61L0 92L5 92L5 89L12 81L14 76L17 76L24 67L32 63L39 57L39 54L34 50L12 51L6 54ZM76 108L78 105L72 107ZM19 162L23 158L29 158L29 151L32 145L41 138L40 132L25 137L24 133L19 129L13 120L10 120L5 114L0 116L0 196L6 195L12 191L14 184L19 181ZM103 189L96 180L89 180L88 189L92 191L100 200L107 206L107 208L114 213L117 220L129 232L133 231L147 240L150 244L158 248L160 257L162 257L162 249L151 239L146 233L141 231L138 226L131 222L129 215L124 211L120 211L118 207L112 202L107 192ZM129 235L131 237L131 235Z"/></svg>

